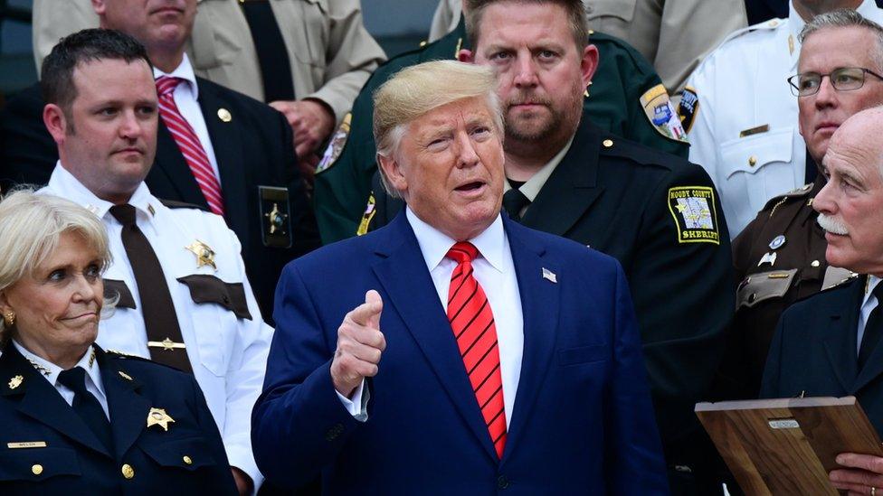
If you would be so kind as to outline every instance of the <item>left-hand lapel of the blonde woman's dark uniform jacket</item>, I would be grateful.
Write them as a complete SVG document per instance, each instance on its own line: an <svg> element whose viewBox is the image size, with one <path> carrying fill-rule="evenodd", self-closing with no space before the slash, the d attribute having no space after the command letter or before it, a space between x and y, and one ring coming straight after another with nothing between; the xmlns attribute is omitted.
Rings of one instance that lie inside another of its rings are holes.
<svg viewBox="0 0 883 496"><path fill-rule="evenodd" d="M52 384L10 344L6 346L0 358L0 378L6 381L7 378L16 376L23 378L21 383L15 388L10 388L10 385L4 382L0 385L0 394L7 397L20 396L22 399L18 404L18 411L52 427L71 440L112 458L107 448L64 401L58 390L53 388Z"/></svg>

